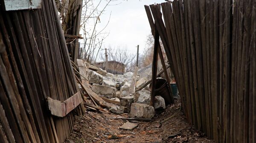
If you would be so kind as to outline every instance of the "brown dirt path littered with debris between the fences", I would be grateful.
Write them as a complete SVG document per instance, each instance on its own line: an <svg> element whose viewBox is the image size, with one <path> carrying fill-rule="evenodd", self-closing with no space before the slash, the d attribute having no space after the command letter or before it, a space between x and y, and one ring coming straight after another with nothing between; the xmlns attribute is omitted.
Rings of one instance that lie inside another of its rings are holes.
<svg viewBox="0 0 256 143"><path fill-rule="evenodd" d="M113 119L118 117L128 115L86 112L83 117L77 119L74 133L66 143L214 143L186 122L180 112L179 101L155 115L151 122L135 121L139 125L133 130L119 129L126 121ZM167 118L168 121L161 123ZM114 134L122 137L108 139Z"/></svg>

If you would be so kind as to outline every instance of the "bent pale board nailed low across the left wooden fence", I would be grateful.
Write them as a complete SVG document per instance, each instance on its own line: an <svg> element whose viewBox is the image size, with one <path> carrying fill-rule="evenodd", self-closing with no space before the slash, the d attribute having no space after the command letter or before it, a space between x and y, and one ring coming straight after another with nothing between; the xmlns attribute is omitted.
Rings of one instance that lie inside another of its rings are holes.
<svg viewBox="0 0 256 143"><path fill-rule="evenodd" d="M75 109L82 101L83 99L81 98L79 92L63 102L47 97L47 108L50 110L52 115L58 117L65 117L69 112Z"/></svg>

